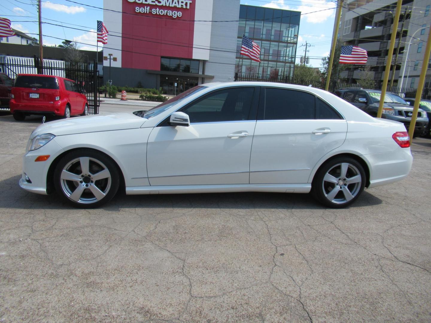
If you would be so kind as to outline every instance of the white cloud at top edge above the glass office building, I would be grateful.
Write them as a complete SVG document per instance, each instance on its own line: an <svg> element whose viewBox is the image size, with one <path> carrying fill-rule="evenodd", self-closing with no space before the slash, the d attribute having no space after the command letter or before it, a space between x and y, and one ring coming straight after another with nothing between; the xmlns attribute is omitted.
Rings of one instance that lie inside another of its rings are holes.
<svg viewBox="0 0 431 323"><path fill-rule="evenodd" d="M329 17L333 16L335 14L335 6L334 3L328 3L324 0L307 0L299 6L287 5L284 0L275 0L264 5L267 8L300 11L303 14L301 20L305 18L306 22L314 24L325 22Z"/></svg>

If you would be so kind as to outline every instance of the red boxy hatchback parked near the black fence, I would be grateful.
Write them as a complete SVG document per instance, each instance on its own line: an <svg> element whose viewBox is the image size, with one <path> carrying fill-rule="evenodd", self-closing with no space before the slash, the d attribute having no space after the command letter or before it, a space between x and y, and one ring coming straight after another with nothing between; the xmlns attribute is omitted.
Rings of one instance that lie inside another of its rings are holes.
<svg viewBox="0 0 431 323"><path fill-rule="evenodd" d="M88 102L74 81L53 75L19 74L12 87L10 112L18 121L26 115L87 115Z"/></svg>

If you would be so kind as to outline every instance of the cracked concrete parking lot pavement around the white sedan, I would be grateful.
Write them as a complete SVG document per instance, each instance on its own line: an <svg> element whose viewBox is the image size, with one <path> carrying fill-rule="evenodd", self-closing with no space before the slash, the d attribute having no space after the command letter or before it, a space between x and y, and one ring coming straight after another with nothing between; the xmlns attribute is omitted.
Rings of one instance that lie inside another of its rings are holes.
<svg viewBox="0 0 431 323"><path fill-rule="evenodd" d="M431 321L431 140L346 209L225 193L85 210L18 186L40 123L0 111L0 322Z"/></svg>

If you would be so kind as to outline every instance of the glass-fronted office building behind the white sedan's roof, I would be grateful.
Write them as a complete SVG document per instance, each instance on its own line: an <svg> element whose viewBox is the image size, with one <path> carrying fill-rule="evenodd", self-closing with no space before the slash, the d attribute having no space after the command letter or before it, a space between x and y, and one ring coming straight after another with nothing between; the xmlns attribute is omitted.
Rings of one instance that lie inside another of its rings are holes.
<svg viewBox="0 0 431 323"><path fill-rule="evenodd" d="M256 78L291 78L301 12L240 5L235 73ZM255 62L240 55L243 34L260 47Z"/></svg>

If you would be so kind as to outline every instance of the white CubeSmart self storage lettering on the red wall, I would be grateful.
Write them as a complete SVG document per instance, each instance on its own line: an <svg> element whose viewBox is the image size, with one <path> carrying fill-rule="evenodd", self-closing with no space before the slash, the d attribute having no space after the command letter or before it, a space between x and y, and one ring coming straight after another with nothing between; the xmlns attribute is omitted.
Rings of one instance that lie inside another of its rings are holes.
<svg viewBox="0 0 431 323"><path fill-rule="evenodd" d="M127 0L127 1L158 6L156 8L151 8L150 6L136 6L135 7L136 13L169 16L172 18L177 18L177 17L180 18L183 15L183 13L181 11L169 10L169 9L164 9L160 7L162 6L162 7L190 9L190 3L192 2L192 0Z"/></svg>

